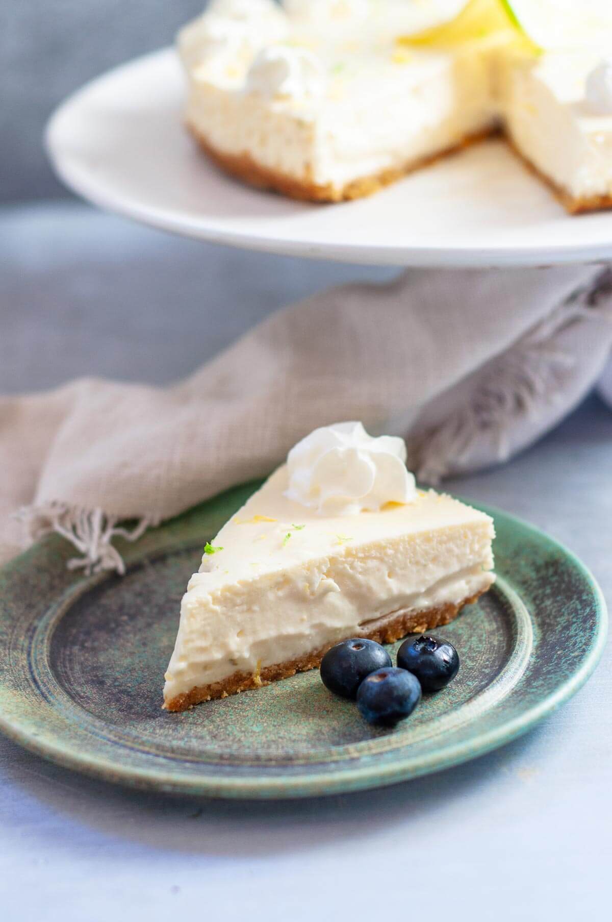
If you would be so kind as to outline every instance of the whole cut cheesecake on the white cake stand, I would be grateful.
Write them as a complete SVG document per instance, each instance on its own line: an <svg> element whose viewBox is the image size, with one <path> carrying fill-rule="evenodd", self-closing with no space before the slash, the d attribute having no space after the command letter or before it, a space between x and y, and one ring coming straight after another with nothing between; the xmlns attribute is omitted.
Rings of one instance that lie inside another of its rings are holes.
<svg viewBox="0 0 612 922"><path fill-rule="evenodd" d="M225 171L329 202L502 130L569 211L612 206L612 60L510 28L411 45L436 6L213 0L179 33L186 124Z"/></svg>

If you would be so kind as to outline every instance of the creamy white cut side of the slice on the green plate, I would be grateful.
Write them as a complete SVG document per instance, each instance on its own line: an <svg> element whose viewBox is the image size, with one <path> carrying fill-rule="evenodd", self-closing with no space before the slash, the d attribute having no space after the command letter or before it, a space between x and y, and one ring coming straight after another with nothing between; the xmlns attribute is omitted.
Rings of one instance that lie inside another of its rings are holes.
<svg viewBox="0 0 612 922"><path fill-rule="evenodd" d="M222 572L196 573L182 599L164 698L298 659L398 611L461 603L493 582L491 538L482 516L439 532L341 545L231 583Z"/></svg>

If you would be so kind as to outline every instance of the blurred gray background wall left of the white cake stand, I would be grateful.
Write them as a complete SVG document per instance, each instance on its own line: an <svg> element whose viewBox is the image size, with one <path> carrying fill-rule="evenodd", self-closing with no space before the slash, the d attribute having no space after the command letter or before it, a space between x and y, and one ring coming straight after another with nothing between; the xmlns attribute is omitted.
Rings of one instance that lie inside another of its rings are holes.
<svg viewBox="0 0 612 922"><path fill-rule="evenodd" d="M49 114L112 65L153 51L205 0L0 0L0 202L66 195L41 148Z"/></svg>

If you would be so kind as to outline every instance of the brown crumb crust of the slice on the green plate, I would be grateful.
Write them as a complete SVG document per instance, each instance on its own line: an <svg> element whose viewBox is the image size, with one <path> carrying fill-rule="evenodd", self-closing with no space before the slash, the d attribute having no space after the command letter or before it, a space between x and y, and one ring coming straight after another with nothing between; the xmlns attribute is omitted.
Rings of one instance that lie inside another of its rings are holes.
<svg viewBox="0 0 612 922"><path fill-rule="evenodd" d="M374 640L378 644L394 644L401 637L406 637L409 633L422 633L431 631L441 624L448 624L456 618L465 605L471 605L476 602L483 592L477 592L475 596L465 598L463 602L456 604L448 603L441 605L436 609L427 609L426 611L398 611L393 621L387 621L385 624L374 628L372 631L359 632L359 637L368 640ZM277 663L274 666L266 666L259 672L235 672L227 679L213 682L211 685L197 685L191 691L185 691L177 695L171 701L164 703L167 711L186 711L204 701L211 701L215 698L227 698L230 694L238 694L240 691L247 689L261 688L262 685L269 685L270 682L276 682L279 679L288 679L294 676L296 672L306 672L308 669L314 669L321 665L321 660L327 650L333 644L327 644L320 650L309 653L300 659L293 659L287 663Z"/></svg>

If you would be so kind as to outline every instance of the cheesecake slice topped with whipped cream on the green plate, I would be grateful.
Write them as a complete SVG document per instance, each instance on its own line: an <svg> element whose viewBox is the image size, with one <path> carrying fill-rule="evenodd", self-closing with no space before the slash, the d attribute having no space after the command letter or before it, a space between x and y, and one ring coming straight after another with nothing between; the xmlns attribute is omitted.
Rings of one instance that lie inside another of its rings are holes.
<svg viewBox="0 0 612 922"><path fill-rule="evenodd" d="M391 643L446 624L489 588L492 520L417 491L404 457L402 440L370 439L356 423L289 453L206 545L182 598L165 708L316 667L347 637Z"/></svg>

